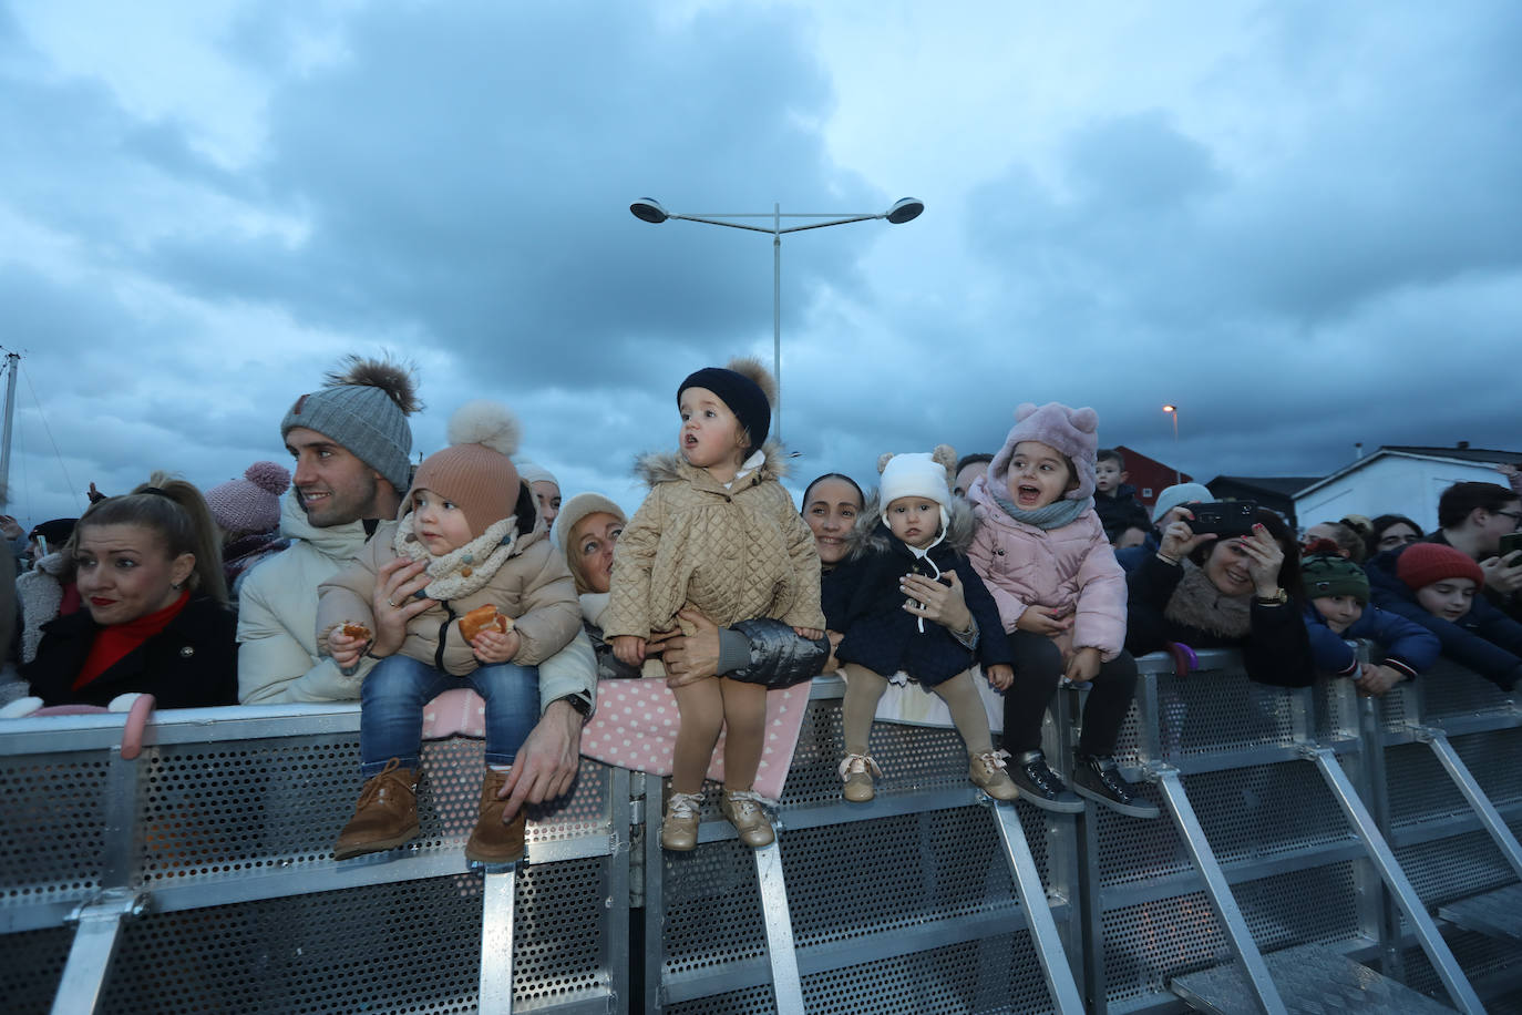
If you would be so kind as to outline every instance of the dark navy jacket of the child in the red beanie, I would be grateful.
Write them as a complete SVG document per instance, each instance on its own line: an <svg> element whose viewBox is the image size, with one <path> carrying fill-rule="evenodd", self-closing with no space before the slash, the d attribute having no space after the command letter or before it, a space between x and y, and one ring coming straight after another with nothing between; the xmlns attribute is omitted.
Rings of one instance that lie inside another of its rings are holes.
<svg viewBox="0 0 1522 1015"><path fill-rule="evenodd" d="M1405 546L1390 549L1364 565L1370 601L1437 635L1444 657L1473 670L1502 691L1516 688L1522 682L1522 624L1496 609L1484 595L1475 595L1469 613L1458 621L1432 616L1396 572L1405 551Z"/></svg>

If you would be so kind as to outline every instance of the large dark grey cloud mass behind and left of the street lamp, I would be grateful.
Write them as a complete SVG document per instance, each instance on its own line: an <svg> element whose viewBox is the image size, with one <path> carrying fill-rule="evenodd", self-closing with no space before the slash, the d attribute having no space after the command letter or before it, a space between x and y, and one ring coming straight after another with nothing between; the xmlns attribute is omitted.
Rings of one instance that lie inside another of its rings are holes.
<svg viewBox="0 0 1522 1015"><path fill-rule="evenodd" d="M805 126L828 84L787 23L724 9L659 27L632 5L584 3L367 11L349 59L277 91L254 170L310 236L294 250L167 239L157 268L326 324L405 321L461 358L492 356L489 380L645 373L636 339L691 348L732 332L737 304L769 309L764 275L734 269L769 251L758 236L656 231L627 213L633 198L764 210L784 178L883 204ZM849 285L845 265L807 253L805 274Z"/></svg>

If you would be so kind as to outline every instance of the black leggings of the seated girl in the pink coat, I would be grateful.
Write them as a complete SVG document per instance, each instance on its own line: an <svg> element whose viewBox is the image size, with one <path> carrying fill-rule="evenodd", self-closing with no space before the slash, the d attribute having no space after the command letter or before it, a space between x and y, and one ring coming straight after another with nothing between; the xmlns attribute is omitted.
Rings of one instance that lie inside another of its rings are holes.
<svg viewBox="0 0 1522 1015"><path fill-rule="evenodd" d="M1015 683L1005 691L1005 750L1020 755L1041 746L1041 717L1062 679L1062 653L1050 638L1033 632L1011 635L1009 648L1015 653ZM1137 660L1131 653L1100 663L1084 703L1079 755L1106 758L1116 750L1135 688Z"/></svg>

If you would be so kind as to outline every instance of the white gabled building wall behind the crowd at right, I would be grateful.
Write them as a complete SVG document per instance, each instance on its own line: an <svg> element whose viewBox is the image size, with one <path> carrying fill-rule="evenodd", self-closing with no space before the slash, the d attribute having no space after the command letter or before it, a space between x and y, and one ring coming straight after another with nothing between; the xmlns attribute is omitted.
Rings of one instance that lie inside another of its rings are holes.
<svg viewBox="0 0 1522 1015"><path fill-rule="evenodd" d="M1437 499L1455 482L1507 485L1505 476L1495 466L1380 455L1367 466L1295 498L1295 516L1301 527L1310 527L1347 514L1405 514L1431 533L1437 528Z"/></svg>

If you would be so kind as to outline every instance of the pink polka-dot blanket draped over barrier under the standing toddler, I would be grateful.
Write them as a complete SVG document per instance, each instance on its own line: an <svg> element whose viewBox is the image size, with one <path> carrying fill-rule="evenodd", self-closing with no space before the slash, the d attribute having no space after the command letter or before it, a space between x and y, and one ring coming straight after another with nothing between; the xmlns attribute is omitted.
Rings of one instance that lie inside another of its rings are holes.
<svg viewBox="0 0 1522 1015"><path fill-rule="evenodd" d="M769 800L782 796L787 770L798 747L798 730L808 711L808 685L766 695L766 747L755 791ZM604 680L597 685L597 714L581 730L581 753L621 768L671 775L671 752L680 717L665 680ZM708 778L724 781L724 735L720 733Z"/></svg>

